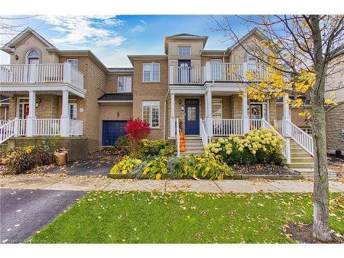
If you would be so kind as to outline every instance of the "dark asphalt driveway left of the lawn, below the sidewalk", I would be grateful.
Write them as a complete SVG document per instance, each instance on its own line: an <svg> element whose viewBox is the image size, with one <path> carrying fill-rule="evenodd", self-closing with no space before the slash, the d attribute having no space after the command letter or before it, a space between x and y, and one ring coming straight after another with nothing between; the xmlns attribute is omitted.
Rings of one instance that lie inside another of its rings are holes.
<svg viewBox="0 0 344 258"><path fill-rule="evenodd" d="M0 243L21 243L72 206L84 191L0 189Z"/></svg>

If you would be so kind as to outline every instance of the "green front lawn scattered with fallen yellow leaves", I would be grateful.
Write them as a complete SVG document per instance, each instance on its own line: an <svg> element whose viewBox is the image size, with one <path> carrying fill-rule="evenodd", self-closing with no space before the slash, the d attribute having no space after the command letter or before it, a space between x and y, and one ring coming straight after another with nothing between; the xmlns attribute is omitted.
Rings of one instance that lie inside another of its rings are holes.
<svg viewBox="0 0 344 258"><path fill-rule="evenodd" d="M330 202L340 233L343 197L331 194ZM28 242L288 243L288 221L312 223L310 193L91 192Z"/></svg>

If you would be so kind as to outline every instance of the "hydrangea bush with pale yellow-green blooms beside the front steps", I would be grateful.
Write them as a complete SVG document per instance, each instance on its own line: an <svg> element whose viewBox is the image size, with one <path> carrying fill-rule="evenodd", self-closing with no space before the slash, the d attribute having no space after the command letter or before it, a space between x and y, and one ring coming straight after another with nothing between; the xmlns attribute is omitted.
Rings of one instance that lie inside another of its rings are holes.
<svg viewBox="0 0 344 258"><path fill-rule="evenodd" d="M281 162L280 150L283 138L269 129L253 129L245 136L231 135L227 139L213 140L206 147L206 153L221 155L227 164L240 162Z"/></svg>

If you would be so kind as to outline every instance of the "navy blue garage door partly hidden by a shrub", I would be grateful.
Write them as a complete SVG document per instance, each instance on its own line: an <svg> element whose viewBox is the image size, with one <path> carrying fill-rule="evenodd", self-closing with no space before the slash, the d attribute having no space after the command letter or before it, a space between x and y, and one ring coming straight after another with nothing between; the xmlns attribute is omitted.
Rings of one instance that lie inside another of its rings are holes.
<svg viewBox="0 0 344 258"><path fill-rule="evenodd" d="M125 135L127 121L103 121L103 146L114 146L120 136Z"/></svg>

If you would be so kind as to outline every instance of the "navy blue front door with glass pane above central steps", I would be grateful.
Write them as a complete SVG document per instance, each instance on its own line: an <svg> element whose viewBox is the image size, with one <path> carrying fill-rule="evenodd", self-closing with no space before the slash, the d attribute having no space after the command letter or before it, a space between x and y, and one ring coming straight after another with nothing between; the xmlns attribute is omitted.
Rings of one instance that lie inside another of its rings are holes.
<svg viewBox="0 0 344 258"><path fill-rule="evenodd" d="M198 99L185 100L185 134L200 134L200 105Z"/></svg>

